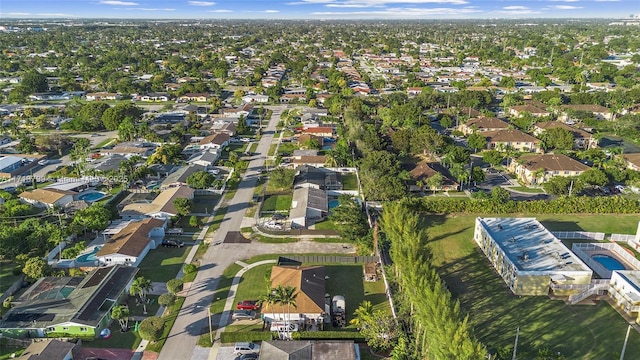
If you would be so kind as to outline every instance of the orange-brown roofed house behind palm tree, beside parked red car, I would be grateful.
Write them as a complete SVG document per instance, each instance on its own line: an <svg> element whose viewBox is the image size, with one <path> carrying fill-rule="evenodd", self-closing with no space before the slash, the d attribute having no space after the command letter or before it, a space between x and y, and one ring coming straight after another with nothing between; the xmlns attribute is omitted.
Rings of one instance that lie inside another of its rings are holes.
<svg viewBox="0 0 640 360"><path fill-rule="evenodd" d="M328 309L325 306L324 266L274 266L271 268L271 287L278 285L296 288L296 308L289 315L280 306L265 307L262 314L268 322L322 321ZM290 317L289 317L290 316Z"/></svg>

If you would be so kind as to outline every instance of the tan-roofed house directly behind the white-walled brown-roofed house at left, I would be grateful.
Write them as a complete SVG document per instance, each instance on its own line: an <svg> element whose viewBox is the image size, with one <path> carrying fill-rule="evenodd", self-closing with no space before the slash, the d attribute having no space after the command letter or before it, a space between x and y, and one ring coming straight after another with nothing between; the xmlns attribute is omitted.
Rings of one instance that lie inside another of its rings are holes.
<svg viewBox="0 0 640 360"><path fill-rule="evenodd" d="M124 220L135 220L144 218L156 218L167 220L176 215L173 202L178 198L193 199L194 190L187 186L176 186L162 191L151 202L137 202L125 205L120 210L120 217Z"/></svg>

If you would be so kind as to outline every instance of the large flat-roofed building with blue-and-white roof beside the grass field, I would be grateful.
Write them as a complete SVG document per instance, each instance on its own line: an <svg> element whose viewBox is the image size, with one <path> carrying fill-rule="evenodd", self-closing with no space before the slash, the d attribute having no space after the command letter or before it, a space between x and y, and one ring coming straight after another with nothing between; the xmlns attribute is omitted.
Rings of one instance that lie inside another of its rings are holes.
<svg viewBox="0 0 640 360"><path fill-rule="evenodd" d="M552 282L591 282L591 269L535 218L477 218L474 240L516 295L548 295ZM555 294L577 290L561 291Z"/></svg>

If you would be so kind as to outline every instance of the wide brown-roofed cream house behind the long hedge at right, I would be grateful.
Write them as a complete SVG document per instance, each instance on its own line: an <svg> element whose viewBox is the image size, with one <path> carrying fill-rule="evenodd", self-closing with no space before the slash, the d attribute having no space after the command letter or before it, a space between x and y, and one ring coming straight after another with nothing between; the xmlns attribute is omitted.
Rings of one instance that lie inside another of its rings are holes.
<svg viewBox="0 0 640 360"><path fill-rule="evenodd" d="M562 154L522 155L512 160L509 170L525 184L542 184L554 176L578 176L591 169Z"/></svg>

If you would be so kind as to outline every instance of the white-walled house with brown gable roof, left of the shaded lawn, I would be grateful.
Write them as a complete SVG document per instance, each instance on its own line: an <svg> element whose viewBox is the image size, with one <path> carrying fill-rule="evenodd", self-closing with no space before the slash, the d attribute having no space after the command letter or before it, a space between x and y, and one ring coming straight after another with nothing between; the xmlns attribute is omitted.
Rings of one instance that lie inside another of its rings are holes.
<svg viewBox="0 0 640 360"><path fill-rule="evenodd" d="M101 265L138 266L149 250L164 238L165 220L132 221L112 236L94 255Z"/></svg>

